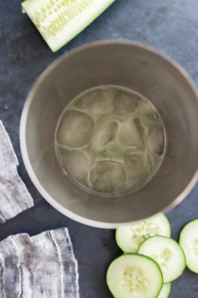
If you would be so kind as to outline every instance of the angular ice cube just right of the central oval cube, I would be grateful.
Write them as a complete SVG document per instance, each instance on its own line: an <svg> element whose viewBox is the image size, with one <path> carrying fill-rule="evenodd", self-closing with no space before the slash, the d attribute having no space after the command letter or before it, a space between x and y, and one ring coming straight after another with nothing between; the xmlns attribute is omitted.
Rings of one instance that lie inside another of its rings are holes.
<svg viewBox="0 0 198 298"><path fill-rule="evenodd" d="M121 146L144 150L144 127L139 118L126 120L120 127L117 137Z"/></svg>

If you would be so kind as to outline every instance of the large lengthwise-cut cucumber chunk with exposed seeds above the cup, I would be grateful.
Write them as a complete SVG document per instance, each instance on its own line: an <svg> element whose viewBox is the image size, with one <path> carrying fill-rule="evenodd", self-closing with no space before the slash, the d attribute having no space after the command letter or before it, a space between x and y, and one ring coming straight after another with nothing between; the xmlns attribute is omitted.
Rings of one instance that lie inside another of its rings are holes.
<svg viewBox="0 0 198 298"><path fill-rule="evenodd" d="M25 0L25 11L55 52L85 29L115 0Z"/></svg>

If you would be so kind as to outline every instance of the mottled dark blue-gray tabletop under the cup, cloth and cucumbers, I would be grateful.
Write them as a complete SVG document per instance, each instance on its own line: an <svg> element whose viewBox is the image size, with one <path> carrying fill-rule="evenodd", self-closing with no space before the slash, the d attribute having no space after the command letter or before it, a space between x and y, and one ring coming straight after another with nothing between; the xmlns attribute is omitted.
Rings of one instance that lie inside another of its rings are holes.
<svg viewBox="0 0 198 298"><path fill-rule="evenodd" d="M116 0L54 54L28 17L21 13L19 0L0 1L0 119L19 158L19 174L36 203L1 226L0 240L20 232L35 235L46 229L68 227L79 263L81 298L112 297L105 273L121 251L116 246L113 230L86 227L68 219L49 206L32 185L19 150L19 120L26 96L38 75L55 58L81 44L108 38L128 38L157 47L179 62L198 84L197 11L197 0ZM167 214L176 240L185 223L198 218L197 193L198 184ZM178 297L198 297L198 275L186 269L173 282L170 298Z"/></svg>

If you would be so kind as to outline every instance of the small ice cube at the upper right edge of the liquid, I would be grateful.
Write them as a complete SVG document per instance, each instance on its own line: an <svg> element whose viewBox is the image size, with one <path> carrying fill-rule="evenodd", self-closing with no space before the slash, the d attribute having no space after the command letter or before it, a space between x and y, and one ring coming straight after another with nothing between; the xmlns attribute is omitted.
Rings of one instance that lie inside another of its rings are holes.
<svg viewBox="0 0 198 298"><path fill-rule="evenodd" d="M158 113L155 106L148 100L142 99L139 104L139 114L147 120L158 121Z"/></svg>

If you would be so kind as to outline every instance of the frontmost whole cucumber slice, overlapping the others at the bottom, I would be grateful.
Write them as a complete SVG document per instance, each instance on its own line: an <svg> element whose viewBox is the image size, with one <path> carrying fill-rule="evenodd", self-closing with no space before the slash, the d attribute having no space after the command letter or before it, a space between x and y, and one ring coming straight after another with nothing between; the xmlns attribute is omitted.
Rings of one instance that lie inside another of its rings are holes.
<svg viewBox="0 0 198 298"><path fill-rule="evenodd" d="M163 277L158 264L138 254L123 254L107 270L107 286L115 298L156 298Z"/></svg>

